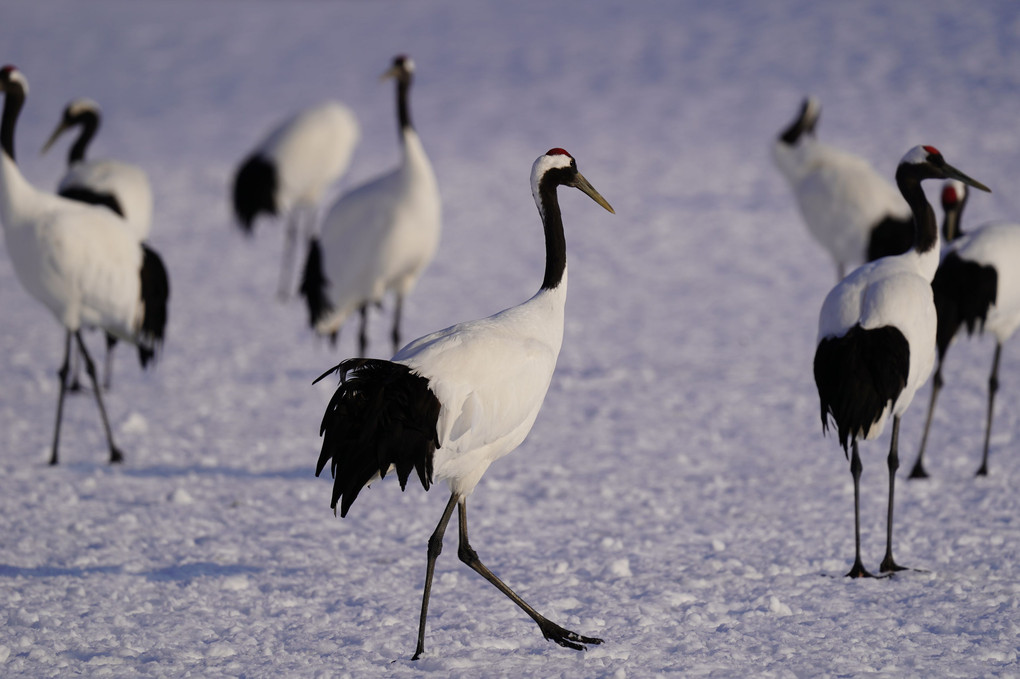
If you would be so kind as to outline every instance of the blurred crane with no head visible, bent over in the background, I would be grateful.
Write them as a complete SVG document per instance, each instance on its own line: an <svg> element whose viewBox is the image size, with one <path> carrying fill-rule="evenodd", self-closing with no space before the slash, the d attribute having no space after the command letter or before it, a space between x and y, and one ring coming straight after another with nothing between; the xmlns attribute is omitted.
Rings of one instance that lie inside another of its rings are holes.
<svg viewBox="0 0 1020 679"><path fill-rule="evenodd" d="M301 222L310 237L323 193L347 170L361 129L347 106L326 101L273 127L238 167L234 212L251 234L260 214L287 218L277 296L291 295Z"/></svg>

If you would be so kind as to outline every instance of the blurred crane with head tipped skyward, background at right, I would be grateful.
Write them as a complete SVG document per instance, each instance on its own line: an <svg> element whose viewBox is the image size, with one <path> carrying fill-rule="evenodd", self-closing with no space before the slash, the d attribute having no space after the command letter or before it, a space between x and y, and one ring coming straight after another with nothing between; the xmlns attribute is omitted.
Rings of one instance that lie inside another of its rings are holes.
<svg viewBox="0 0 1020 679"><path fill-rule="evenodd" d="M772 157L842 280L848 266L906 252L914 231L910 207L868 161L818 141L820 114L818 99L806 98L776 139Z"/></svg>

